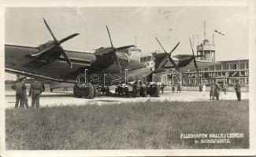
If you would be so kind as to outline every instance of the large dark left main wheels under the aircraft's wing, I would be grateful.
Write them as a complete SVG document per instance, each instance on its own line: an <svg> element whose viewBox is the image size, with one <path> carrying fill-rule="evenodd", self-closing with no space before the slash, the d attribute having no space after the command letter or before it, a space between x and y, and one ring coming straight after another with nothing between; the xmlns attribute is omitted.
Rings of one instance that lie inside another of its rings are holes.
<svg viewBox="0 0 256 157"><path fill-rule="evenodd" d="M95 95L95 90L91 84L87 84L87 87L80 87L75 85L73 87L73 93L75 97L85 97L87 99L93 99Z"/></svg>

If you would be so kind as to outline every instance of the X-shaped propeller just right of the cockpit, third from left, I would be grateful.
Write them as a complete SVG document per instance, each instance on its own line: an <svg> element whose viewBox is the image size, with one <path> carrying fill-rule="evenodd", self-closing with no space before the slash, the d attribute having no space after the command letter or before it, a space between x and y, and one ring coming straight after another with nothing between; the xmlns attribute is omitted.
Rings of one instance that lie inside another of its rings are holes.
<svg viewBox="0 0 256 157"><path fill-rule="evenodd" d="M178 68L178 66L176 65L175 61L174 61L173 58L171 57L171 54L172 54L173 51L177 48L177 46L179 46L180 42L178 42L178 43L176 44L176 46L172 49L172 51L171 51L170 53L167 53L166 50L165 50L165 48L161 45L161 42L158 40L158 38L155 37L155 39L158 41L158 44L161 46L161 49L163 49L164 52L165 52L165 54L166 54L165 57L164 57L164 58L160 61L160 63L158 64L158 68L157 68L157 69L159 69L159 68L161 68L162 66L164 66L164 65L166 64L167 60L169 60L169 61L174 65L174 67L180 72L180 68Z"/></svg>

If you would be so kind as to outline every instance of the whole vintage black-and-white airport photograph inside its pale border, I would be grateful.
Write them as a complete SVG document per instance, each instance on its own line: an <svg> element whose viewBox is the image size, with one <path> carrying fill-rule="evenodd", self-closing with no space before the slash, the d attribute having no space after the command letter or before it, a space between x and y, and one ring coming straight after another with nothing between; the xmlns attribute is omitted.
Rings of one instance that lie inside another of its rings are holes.
<svg viewBox="0 0 256 157"><path fill-rule="evenodd" d="M5 149L250 149L249 8L5 7Z"/></svg>

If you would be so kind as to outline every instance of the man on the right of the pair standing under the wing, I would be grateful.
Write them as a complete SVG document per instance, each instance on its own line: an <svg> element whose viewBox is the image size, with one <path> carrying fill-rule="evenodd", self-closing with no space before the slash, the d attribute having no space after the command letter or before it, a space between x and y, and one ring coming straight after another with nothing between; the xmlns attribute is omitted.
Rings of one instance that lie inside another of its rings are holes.
<svg viewBox="0 0 256 157"><path fill-rule="evenodd" d="M41 82L38 82L36 79L32 82L29 89L29 96L32 95L32 108L39 108L39 98L41 93L43 92L43 85Z"/></svg>

